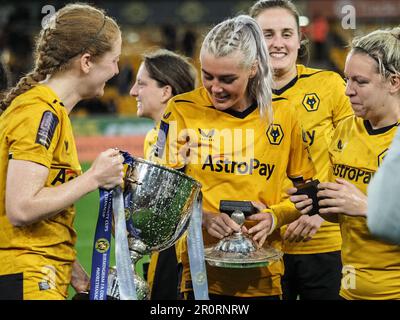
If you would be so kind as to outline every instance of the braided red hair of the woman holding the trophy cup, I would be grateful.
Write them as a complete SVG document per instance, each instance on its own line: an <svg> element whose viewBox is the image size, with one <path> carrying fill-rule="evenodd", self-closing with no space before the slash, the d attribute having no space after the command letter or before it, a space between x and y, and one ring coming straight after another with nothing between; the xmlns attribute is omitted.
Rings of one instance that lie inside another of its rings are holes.
<svg viewBox="0 0 400 320"><path fill-rule="evenodd" d="M48 75L67 70L72 58L90 53L94 59L112 49L120 35L117 23L104 11L87 4L68 4L41 30L34 52L33 70L22 77L0 102L0 114L11 102Z"/></svg>

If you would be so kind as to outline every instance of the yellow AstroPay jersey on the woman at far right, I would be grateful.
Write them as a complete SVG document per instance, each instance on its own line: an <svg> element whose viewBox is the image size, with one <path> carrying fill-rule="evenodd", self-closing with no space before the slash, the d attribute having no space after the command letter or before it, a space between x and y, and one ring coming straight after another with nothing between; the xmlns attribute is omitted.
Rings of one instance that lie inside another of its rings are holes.
<svg viewBox="0 0 400 320"><path fill-rule="evenodd" d="M332 177L343 178L367 192L382 163L397 124L374 130L368 121L351 117L335 131L329 148ZM400 246L374 238L364 217L339 215L346 299L400 299Z"/></svg>

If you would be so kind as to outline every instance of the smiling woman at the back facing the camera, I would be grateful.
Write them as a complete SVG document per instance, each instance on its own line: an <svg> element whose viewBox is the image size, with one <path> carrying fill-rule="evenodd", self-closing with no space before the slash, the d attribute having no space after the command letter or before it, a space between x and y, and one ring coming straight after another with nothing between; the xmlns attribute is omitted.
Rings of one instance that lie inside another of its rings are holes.
<svg viewBox="0 0 400 320"><path fill-rule="evenodd" d="M352 114L344 81L332 71L296 64L306 52L299 13L287 0L261 0L250 9L263 30L274 70L273 103L293 109L304 129L317 174L328 177L328 145L334 128ZM290 187L290 181L285 189ZM339 226L319 215L302 216L282 229L285 274L283 298L338 299L341 259Z"/></svg>

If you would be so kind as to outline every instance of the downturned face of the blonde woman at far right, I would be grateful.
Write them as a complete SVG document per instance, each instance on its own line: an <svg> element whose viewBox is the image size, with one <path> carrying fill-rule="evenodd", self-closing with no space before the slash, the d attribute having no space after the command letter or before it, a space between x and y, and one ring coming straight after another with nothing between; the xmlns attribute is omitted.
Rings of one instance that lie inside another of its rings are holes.
<svg viewBox="0 0 400 320"><path fill-rule="evenodd" d="M376 61L365 53L351 52L346 59L344 74L354 114L364 120L383 118L388 97L388 84L378 72Z"/></svg>

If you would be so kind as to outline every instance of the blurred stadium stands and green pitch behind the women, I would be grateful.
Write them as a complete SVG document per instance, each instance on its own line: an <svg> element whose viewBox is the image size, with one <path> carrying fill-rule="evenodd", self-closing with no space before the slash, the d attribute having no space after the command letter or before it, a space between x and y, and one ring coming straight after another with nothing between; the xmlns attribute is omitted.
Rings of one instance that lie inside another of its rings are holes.
<svg viewBox="0 0 400 320"><path fill-rule="evenodd" d="M34 37L40 31L46 6L55 10L71 1L29 1L15 4L0 0L0 56L7 64L11 84L32 65ZM198 51L209 28L238 13L245 13L254 1L239 0L147 0L88 1L116 18L123 31L120 73L109 81L101 99L84 101L74 109L71 119L78 154L86 170L96 155L108 147L119 147L141 157L143 139L153 126L136 117L136 100L129 96L141 54L155 48L183 53L198 65ZM302 14L302 29L310 40L310 54L303 63L342 73L346 45L355 35L399 24L399 0L294 0ZM343 19L354 8L355 28L345 29ZM347 6L347 7L346 7ZM316 41L319 40L319 45ZM315 49L319 48L318 54ZM321 51L322 50L322 51ZM98 192L77 203L75 227L78 233L78 258L90 272L92 244L97 221ZM114 250L112 250L112 255ZM141 262L148 261L148 257ZM111 265L115 262L111 259ZM142 264L138 273L142 274ZM70 290L72 295L73 290Z"/></svg>

